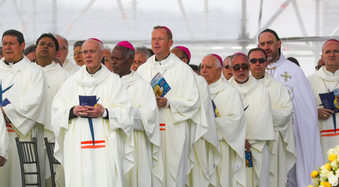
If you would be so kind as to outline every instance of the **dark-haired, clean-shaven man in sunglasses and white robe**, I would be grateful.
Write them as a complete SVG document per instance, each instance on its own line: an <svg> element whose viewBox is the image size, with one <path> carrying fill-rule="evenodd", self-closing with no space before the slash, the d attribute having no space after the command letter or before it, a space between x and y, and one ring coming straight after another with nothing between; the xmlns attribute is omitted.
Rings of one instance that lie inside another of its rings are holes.
<svg viewBox="0 0 339 187"><path fill-rule="evenodd" d="M265 51L261 48L252 48L247 56L251 75L268 88L272 104L275 141L270 144L270 150L273 153L270 157L270 172L273 173L270 186L285 187L287 172L296 161L290 120L292 101L285 86L265 71L268 64Z"/></svg>

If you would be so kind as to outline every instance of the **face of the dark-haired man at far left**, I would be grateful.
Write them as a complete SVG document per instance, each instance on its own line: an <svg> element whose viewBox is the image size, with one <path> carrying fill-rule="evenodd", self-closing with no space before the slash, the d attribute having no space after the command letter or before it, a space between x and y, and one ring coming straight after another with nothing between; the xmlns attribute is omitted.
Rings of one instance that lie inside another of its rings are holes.
<svg viewBox="0 0 339 187"><path fill-rule="evenodd" d="M17 36L5 35L3 37L3 53L5 60L13 63L19 61L23 57L25 42L19 44Z"/></svg>

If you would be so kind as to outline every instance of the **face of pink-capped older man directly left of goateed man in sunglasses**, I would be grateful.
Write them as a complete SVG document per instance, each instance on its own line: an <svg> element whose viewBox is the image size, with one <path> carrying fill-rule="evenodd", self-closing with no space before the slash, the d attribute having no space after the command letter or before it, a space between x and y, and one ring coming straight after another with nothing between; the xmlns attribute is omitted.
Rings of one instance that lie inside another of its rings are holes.
<svg viewBox="0 0 339 187"><path fill-rule="evenodd" d="M221 76L221 67L215 66L217 58L212 55L207 55L202 59L200 75L204 77L208 84L216 82Z"/></svg>

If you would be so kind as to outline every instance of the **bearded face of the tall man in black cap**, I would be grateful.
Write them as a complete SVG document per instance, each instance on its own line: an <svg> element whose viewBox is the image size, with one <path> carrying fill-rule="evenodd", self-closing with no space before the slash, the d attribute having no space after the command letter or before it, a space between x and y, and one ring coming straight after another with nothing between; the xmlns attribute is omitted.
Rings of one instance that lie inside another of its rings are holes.
<svg viewBox="0 0 339 187"><path fill-rule="evenodd" d="M258 47L266 52L269 62L275 62L279 59L280 46L281 41L277 41L271 32L262 32L260 34Z"/></svg>

